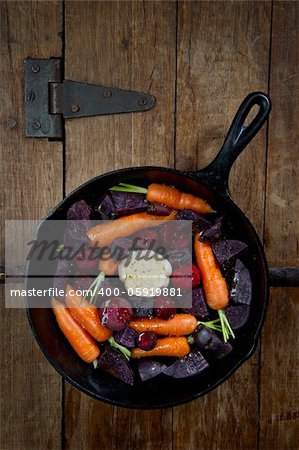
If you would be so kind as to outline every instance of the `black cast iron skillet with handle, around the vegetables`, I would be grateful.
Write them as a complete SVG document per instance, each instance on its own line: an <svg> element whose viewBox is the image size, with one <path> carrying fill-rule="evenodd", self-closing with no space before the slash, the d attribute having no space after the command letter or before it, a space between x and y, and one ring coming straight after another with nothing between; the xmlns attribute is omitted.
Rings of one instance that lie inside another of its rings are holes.
<svg viewBox="0 0 299 450"><path fill-rule="evenodd" d="M245 120L255 105L258 106L258 113L245 127ZM208 393L224 382L254 353L268 305L268 267L253 226L230 197L228 177L234 161L265 123L270 109L267 95L260 92L249 94L242 102L218 155L203 170L186 173L162 167L132 167L109 172L75 189L40 223L37 237L42 236L47 220L66 219L68 208L78 200L85 199L88 203L94 204L98 200L99 193L119 182L137 185L160 182L173 184L184 191L205 198L214 209L226 214L235 238L243 240L249 246L245 260L253 284L249 320L236 333L231 355L217 363L216 367L211 366L204 374L188 380L173 380L161 376L145 383L137 383L133 387L127 386L81 361L59 331L51 310L30 308L28 303L29 323L39 346L54 368L75 387L96 399L118 406L170 407ZM33 266L34 261L30 261L27 267L27 289L33 287L30 278ZM49 287L51 283L52 280L49 280Z"/></svg>

